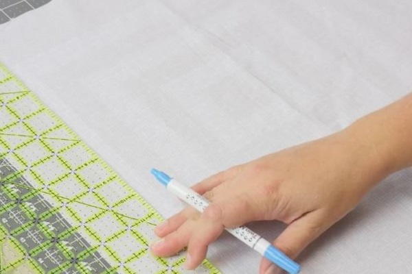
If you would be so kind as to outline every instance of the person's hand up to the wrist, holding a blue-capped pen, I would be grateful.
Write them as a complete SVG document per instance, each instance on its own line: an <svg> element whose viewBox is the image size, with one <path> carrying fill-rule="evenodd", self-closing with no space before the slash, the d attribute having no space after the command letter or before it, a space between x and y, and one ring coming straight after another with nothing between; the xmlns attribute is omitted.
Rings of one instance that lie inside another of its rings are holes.
<svg viewBox="0 0 412 274"><path fill-rule="evenodd" d="M225 227L279 220L288 227L273 243L295 258L385 177L382 165L371 161L375 152L357 144L343 131L205 179L193 188L210 206L203 214L186 208L159 225L155 232L163 240L152 246L153 253L171 256L187 246L185 266L194 269ZM260 273L269 267L275 266L263 260Z"/></svg>

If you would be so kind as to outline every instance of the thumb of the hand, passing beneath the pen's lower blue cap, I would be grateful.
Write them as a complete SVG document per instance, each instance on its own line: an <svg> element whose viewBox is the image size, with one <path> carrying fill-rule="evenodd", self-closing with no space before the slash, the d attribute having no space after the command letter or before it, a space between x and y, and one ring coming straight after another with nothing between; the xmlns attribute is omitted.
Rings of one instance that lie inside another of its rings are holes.
<svg viewBox="0 0 412 274"><path fill-rule="evenodd" d="M280 234L273 245L290 258L297 258L299 253L327 229L326 214L322 210L315 210L304 214L290 223ZM266 258L260 263L260 274L284 273Z"/></svg>

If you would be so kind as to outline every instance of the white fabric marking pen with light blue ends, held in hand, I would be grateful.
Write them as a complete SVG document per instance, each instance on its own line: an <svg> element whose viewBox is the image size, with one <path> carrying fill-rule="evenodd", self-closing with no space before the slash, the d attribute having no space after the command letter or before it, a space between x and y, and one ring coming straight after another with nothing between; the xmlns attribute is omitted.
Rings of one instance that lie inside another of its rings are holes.
<svg viewBox="0 0 412 274"><path fill-rule="evenodd" d="M196 208L199 212L203 212L203 210L209 206L209 201L207 201L205 197L199 195L192 190L192 188L188 188L177 182L166 173L158 171L157 169L152 169L150 173L155 175L156 179L170 192L188 203L190 206ZM262 236L251 231L248 227L241 226L236 228L226 228L226 230L249 247L255 249L255 251L258 251L262 256L279 266L281 269L284 269L284 271L287 271L290 274L299 273L299 264L288 258L282 251L271 245L271 243L262 238Z"/></svg>

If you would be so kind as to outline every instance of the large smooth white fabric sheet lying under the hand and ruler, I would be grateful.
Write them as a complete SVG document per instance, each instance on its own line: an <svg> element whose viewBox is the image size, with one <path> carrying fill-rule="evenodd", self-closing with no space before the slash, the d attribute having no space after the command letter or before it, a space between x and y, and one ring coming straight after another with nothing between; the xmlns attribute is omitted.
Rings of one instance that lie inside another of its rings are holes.
<svg viewBox="0 0 412 274"><path fill-rule="evenodd" d="M329 134L412 87L412 2L62 1L0 25L0 61L164 216L193 184ZM303 274L412 273L411 170L301 256ZM251 228L272 240L278 223ZM257 273L225 235L208 258Z"/></svg>

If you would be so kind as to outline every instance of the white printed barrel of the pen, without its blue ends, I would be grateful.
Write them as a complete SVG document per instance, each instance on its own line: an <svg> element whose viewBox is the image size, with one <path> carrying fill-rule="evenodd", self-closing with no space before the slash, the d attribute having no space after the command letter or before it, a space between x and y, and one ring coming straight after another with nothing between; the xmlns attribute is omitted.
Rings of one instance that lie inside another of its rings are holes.
<svg viewBox="0 0 412 274"><path fill-rule="evenodd" d="M180 184L175 179L172 179L167 186L168 190L186 203L190 204L196 208L196 210L203 212L207 206L209 206L209 201L202 195L199 195L197 192L192 190L192 188L188 188L183 184ZM258 234L251 231L251 229L247 227L236 227L236 228L227 228L227 232L244 242L249 247L255 249L260 254L264 254L264 251L270 245L267 240L264 240Z"/></svg>

